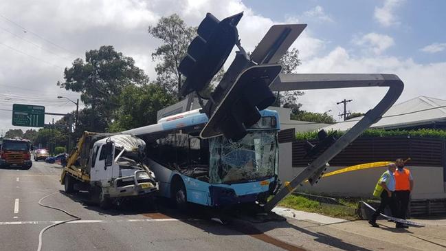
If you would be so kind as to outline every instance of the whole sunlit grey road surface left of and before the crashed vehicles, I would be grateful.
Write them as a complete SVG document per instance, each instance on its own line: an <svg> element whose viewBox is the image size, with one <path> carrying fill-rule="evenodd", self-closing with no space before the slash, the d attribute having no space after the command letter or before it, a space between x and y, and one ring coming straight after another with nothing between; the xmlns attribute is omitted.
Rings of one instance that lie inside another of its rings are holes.
<svg viewBox="0 0 446 251"><path fill-rule="evenodd" d="M3 228L0 231L0 238L2 240L10 240L2 241L1 245L3 247L0 248L1 250L32 249L33 246L38 244L38 232L52 223L48 221L70 219L62 212L43 208L37 204L38 199L41 197L49 194L52 190L62 188L58 183L59 176L49 175L48 168L51 167L43 162L38 162L34 164L34 168L30 169L30 171L20 173L23 184L21 189L12 191L14 194L12 197L22 197L24 201L21 205L23 208L21 210L21 217L23 217L21 220L24 223L16 225L16 222L14 222L14 225L0 225L0 228ZM10 175L9 182L14 180L14 175ZM163 213L150 211L145 211L144 215L146 216L144 216L140 215L140 210L139 213L133 210L122 211L117 209L102 211L96 206L85 205L78 201L79 197L82 198L82 196L85 196L85 193L70 196L56 193L45 199L45 204L51 204L52 206L64 208L69 212L74 212L75 215L82 217L82 219L87 219L87 221L88 219L101 221L95 223L67 223L50 229L49 232L45 233L45 238L47 234L53 233L56 235L48 238L50 241L47 245L49 247L54 245L50 250L60 250L61 248L91 250L91 247L102 247L109 250L146 250L146 245L150 241L150 245L153 245L154 249L159 250L175 250L178 248L186 248L186 250L189 248L194 250L204 250L204 248L220 249L222 243L226 242L230 243L226 244L230 249L249 249L253 247L265 249L266 246L267 250L280 250L274 245L265 244L263 241L241 234L241 232L228 230L212 222L194 221L194 219L191 221L179 221ZM148 217L153 217L154 215L157 215L155 218L161 219L159 221L142 221L144 219L150 220ZM164 221L166 218L172 220ZM37 222L35 224L26 222L25 220L28 219ZM82 234L79 234L80 232ZM123 232L126 234L123 234ZM135 234L135 232L138 232L138 234ZM147 234L149 237L147 237ZM15 238L17 236L21 238ZM78 239L76 236L82 238ZM67 237L70 238L67 239ZM27 241L23 241L24 239Z"/></svg>

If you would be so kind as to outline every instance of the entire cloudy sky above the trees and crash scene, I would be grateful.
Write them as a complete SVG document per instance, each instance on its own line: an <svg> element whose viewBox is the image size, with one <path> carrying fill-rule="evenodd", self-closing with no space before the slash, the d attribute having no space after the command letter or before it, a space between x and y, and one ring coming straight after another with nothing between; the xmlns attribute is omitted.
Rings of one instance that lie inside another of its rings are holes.
<svg viewBox="0 0 446 251"><path fill-rule="evenodd" d="M56 97L75 100L79 94L56 83L63 80L63 69L74 58L101 45L113 45L132 56L138 67L156 78L157 62L150 55L160 41L149 36L147 28L173 13L197 26L206 12L223 19L243 11L238 33L247 51L254 50L271 25L307 23L291 46L300 51L302 60L296 73L397 74L405 83L398 102L416 96L446 100L444 10L446 1L440 0L0 1L0 130L12 128L9 109L19 100L45 105L49 112L72 111L74 105ZM342 107L336 102L353 99L348 109L365 112L385 92L380 88L306 91L299 102L308 111L330 111L338 118Z"/></svg>

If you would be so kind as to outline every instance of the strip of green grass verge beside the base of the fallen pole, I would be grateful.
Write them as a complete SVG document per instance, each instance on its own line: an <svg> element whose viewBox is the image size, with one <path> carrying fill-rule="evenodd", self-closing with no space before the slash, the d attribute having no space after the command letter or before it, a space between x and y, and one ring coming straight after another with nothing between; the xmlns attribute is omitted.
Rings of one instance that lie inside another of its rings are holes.
<svg viewBox="0 0 446 251"><path fill-rule="evenodd" d="M348 219L350 221L359 219L355 210L357 209L358 200L355 199L339 199L339 202L346 206L323 204L313 199L308 199L300 195L288 195L280 201L278 206L292 208L304 212L317 212L321 215Z"/></svg>

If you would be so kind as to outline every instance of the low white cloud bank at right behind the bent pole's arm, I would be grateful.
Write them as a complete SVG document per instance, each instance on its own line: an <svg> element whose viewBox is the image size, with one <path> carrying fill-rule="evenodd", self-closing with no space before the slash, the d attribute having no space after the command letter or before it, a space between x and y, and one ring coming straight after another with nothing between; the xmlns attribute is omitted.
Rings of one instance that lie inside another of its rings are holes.
<svg viewBox="0 0 446 251"><path fill-rule="evenodd" d="M298 73L397 74L405 85L398 100L402 102L421 95L446 99L446 94L438 91L445 88L445 67L446 61L421 64L414 62L412 58L385 55L357 57L349 54L343 47L336 47L325 56L315 57L302 64ZM386 91L386 88L381 87L305 91L300 102L303 109L310 111L332 110L332 115L337 118L338 109L342 107L336 105L336 102L344 98L353 99L353 102L348 103L348 109L352 112L366 112L377 105Z"/></svg>

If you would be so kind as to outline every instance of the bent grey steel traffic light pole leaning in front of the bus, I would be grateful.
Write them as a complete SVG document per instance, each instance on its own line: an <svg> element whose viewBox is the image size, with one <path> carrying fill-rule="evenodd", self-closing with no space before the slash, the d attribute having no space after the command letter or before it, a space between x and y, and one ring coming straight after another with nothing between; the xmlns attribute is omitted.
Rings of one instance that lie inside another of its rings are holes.
<svg viewBox="0 0 446 251"><path fill-rule="evenodd" d="M333 89L350 87L389 87L386 96L364 118L342 135L324 153L317 157L309 166L299 173L291 182L282 187L279 192L264 206L265 211L273 209L284 197L289 195L296 186L315 175L326 163L340 153L355 140L371 124L377 122L403 92L403 81L393 74L280 74L270 85L271 91L295 91L308 89Z"/></svg>

